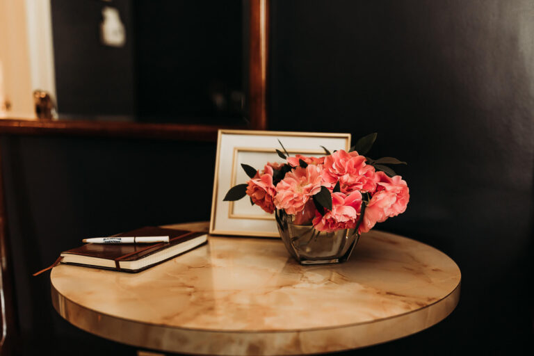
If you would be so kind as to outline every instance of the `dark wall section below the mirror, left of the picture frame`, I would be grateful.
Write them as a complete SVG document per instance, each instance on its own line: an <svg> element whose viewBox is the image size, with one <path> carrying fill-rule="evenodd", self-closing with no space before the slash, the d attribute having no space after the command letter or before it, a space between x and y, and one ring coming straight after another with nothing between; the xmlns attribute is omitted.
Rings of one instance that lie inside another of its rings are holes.
<svg viewBox="0 0 534 356"><path fill-rule="evenodd" d="M86 236L209 220L215 143L81 137L4 137L0 143L19 351L135 355L60 318L51 305L49 273L31 274Z"/></svg>

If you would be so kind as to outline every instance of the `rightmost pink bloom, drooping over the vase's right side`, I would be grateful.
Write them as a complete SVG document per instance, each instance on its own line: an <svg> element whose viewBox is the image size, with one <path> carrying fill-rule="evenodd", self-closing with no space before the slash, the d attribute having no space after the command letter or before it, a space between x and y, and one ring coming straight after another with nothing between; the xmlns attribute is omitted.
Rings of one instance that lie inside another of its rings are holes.
<svg viewBox="0 0 534 356"><path fill-rule="evenodd" d="M369 232L375 223L382 223L406 210L410 190L400 175L392 178L384 172L376 172L377 188L364 213L359 232Z"/></svg>

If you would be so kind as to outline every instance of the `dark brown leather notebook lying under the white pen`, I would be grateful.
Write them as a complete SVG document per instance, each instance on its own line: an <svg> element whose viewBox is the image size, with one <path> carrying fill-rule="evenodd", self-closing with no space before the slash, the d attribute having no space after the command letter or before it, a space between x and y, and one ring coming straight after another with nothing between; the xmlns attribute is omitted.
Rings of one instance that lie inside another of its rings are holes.
<svg viewBox="0 0 534 356"><path fill-rule="evenodd" d="M168 243L86 243L61 252L62 264L137 273L207 241L205 232L142 227L115 236L169 236Z"/></svg>

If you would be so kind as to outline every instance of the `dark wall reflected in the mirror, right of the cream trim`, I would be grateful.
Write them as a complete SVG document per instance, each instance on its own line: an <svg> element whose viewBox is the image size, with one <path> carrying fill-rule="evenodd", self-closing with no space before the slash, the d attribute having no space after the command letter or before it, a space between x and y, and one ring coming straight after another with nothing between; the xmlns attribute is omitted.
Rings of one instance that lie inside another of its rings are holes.
<svg viewBox="0 0 534 356"><path fill-rule="evenodd" d="M59 119L243 124L248 2L51 0Z"/></svg>

